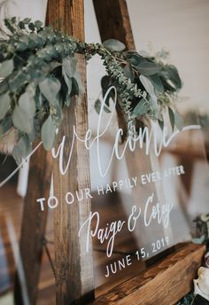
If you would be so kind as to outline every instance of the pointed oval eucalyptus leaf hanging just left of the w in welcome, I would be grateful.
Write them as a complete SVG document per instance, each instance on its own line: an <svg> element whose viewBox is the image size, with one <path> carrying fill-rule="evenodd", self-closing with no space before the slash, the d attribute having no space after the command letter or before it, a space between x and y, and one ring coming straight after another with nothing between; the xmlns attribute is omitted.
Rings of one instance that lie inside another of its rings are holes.
<svg viewBox="0 0 209 305"><path fill-rule="evenodd" d="M56 137L56 127L52 120L52 117L49 116L47 120L44 121L42 127L43 146L47 151L53 148L55 137Z"/></svg>

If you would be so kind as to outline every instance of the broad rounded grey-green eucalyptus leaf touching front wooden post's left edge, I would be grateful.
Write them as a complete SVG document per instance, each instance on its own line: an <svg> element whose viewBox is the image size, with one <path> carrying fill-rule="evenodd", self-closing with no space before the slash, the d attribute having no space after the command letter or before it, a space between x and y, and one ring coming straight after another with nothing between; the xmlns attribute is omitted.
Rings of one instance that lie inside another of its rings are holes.
<svg viewBox="0 0 209 305"><path fill-rule="evenodd" d="M46 77L43 82L39 83L40 91L50 103L56 100L60 88L61 84L55 77Z"/></svg>

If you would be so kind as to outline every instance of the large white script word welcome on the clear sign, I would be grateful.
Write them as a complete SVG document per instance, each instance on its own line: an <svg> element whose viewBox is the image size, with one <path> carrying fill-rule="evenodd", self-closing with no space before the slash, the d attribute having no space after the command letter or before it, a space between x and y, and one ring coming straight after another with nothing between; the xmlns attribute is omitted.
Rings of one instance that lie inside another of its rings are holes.
<svg viewBox="0 0 209 305"><path fill-rule="evenodd" d="M113 109L112 113L109 115L109 120L105 124L105 128L101 128L101 121L103 120L104 116L104 106L105 101L110 93L110 91L114 92L114 100L113 100ZM121 160L125 152L129 149L131 152L134 152L135 149L138 147L139 149L142 149L145 145L145 153L146 155L149 155L150 150L153 149L153 152L156 156L159 156L161 150L163 147L167 147L171 141L176 137L180 132L186 131L189 129L200 129L201 127L199 125L189 125L184 127L181 131L180 130L174 130L172 134L169 135L168 129L166 126L162 130L162 137L159 140L158 132L157 130L151 126L149 129L148 127L139 128L138 132L134 133L134 135L129 135L124 143L124 145L120 145L120 138L123 135L123 129L118 129L115 136L114 136L114 143L112 144L112 153L110 160L108 160L108 164L106 168L102 168L102 161L101 161L101 145L100 142L102 140L102 137L104 137L105 133L107 133L107 130L111 128L112 118L114 115L114 110L116 106L116 100L117 100L117 91L115 87L110 87L109 90L106 91L106 94L103 98L102 105L101 105L101 111L98 116L98 122L97 122L97 136L92 138L92 131L91 129L88 129L85 135L85 138L80 138L78 134L76 133L75 127L73 127L73 140L71 142L71 146L69 147L69 154L67 161L64 160L64 152L66 152L66 136L62 138L61 143L58 145L58 150L56 152L55 148L52 149L52 156L53 158L57 159L59 158L59 170L61 175L66 175L66 172L70 168L70 163L72 159L72 153L74 150L74 144L75 141L82 142L87 150L90 150L92 146L95 144L97 145L97 165L99 169L99 173L101 176L106 176L109 168L111 167L112 160L114 157L116 157L118 160ZM151 146L151 141L153 142L153 146Z"/></svg>

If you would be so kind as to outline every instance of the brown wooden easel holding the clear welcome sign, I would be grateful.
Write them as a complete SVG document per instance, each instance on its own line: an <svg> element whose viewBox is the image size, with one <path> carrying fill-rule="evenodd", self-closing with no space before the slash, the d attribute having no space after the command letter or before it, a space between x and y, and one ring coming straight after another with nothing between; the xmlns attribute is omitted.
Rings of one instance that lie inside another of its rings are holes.
<svg viewBox="0 0 209 305"><path fill-rule="evenodd" d="M125 43L129 50L135 49L128 9L125 0L94 0L98 27L102 41L116 38ZM47 23L59 30L74 35L84 41L83 0L49 0ZM83 58L79 58L82 81L85 83L86 68ZM69 123L70 122L70 123ZM72 137L71 126L75 125L77 134L83 137L88 127L87 97L77 98L70 108L66 108L59 133ZM143 157L144 158L144 157ZM151 159L145 157L151 168ZM140 167L140 164L139 164ZM58 161L53 161L55 193L59 199L54 212L55 264L57 304L173 304L191 288L197 267L204 254L204 246L186 245L176 249L174 254L159 262L143 275L132 278L116 287L95 293L92 253L84 250L85 239L78 238L80 223L90 211L89 199L74 205L63 204L62 193L89 187L89 155L80 145L74 145L73 162L70 172L60 178ZM36 203L39 197L48 197L50 188L50 154L40 149L31 159L29 184L22 220L20 254L27 283L27 296L35 304L39 280L43 237L47 211L40 211ZM193 267L192 267L193 266ZM192 268L191 268L192 267ZM159 275L160 271L160 275ZM182 285L182 279L185 283ZM175 277L175 280L174 280ZM149 281L148 281L149 278ZM181 281L181 282L178 282ZM161 282L160 282L161 281ZM163 286L160 284L163 282ZM129 287L133 286L130 291ZM21 278L16 276L15 301L23 304ZM159 289L158 302L156 290ZM165 293L166 292L166 293ZM161 294L160 294L161 293Z"/></svg>

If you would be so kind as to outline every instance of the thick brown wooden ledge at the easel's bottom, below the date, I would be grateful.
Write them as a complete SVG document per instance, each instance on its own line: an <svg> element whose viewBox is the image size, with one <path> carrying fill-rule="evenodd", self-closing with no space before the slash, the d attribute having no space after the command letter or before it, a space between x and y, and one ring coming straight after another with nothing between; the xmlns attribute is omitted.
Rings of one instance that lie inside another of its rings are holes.
<svg viewBox="0 0 209 305"><path fill-rule="evenodd" d="M182 245L137 277L100 294L91 304L173 305L192 289L204 254L205 246Z"/></svg>

